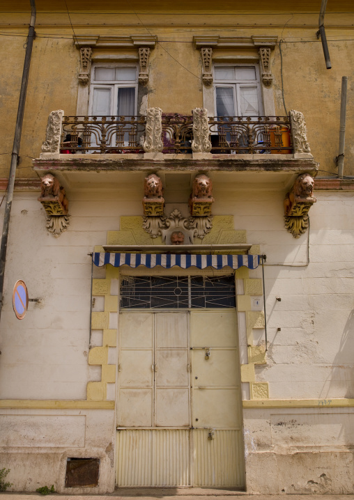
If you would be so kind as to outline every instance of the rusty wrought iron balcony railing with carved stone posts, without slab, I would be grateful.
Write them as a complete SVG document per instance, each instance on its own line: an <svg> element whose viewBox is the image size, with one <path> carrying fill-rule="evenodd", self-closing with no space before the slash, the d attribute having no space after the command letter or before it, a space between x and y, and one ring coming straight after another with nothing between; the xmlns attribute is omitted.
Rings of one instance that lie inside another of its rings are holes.
<svg viewBox="0 0 354 500"><path fill-rule="evenodd" d="M293 140L295 143L293 144ZM215 116L206 109L192 116L63 116L52 111L43 153L212 153L213 155L309 153L303 115Z"/></svg>

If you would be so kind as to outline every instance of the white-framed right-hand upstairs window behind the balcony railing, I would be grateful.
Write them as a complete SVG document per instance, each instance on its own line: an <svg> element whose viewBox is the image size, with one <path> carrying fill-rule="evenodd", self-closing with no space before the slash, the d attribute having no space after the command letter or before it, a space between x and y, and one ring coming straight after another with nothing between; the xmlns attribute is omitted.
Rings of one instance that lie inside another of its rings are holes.
<svg viewBox="0 0 354 500"><path fill-rule="evenodd" d="M214 67L217 116L260 116L261 85L255 65Z"/></svg>

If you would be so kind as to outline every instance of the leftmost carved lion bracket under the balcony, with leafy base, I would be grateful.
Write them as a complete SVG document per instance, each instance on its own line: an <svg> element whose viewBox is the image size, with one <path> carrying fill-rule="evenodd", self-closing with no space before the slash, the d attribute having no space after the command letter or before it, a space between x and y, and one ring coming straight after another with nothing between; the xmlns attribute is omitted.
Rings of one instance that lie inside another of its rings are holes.
<svg viewBox="0 0 354 500"><path fill-rule="evenodd" d="M41 178L40 189L38 201L42 203L46 212L47 231L58 237L69 226L69 202L68 198L66 198L65 189L52 173L46 173Z"/></svg>

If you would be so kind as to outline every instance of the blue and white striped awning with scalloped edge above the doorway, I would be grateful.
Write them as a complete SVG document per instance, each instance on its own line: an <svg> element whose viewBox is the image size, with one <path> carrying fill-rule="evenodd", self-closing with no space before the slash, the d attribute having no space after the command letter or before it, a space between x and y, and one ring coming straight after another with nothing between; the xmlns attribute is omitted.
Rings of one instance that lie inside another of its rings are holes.
<svg viewBox="0 0 354 500"><path fill-rule="evenodd" d="M186 255L180 253L93 253L93 263L97 266L111 264L114 267L128 265L138 267L144 265L148 269L159 265L165 269L178 266L182 269L188 267L232 267L238 269L245 265L249 269L256 269L259 266L259 255Z"/></svg>

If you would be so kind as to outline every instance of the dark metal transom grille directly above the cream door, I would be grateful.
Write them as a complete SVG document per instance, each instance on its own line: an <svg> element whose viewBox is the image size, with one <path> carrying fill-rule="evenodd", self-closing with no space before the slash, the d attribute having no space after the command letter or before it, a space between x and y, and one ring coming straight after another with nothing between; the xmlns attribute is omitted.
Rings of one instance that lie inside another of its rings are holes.
<svg viewBox="0 0 354 500"><path fill-rule="evenodd" d="M236 307L231 276L125 276L121 308Z"/></svg>

